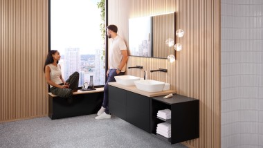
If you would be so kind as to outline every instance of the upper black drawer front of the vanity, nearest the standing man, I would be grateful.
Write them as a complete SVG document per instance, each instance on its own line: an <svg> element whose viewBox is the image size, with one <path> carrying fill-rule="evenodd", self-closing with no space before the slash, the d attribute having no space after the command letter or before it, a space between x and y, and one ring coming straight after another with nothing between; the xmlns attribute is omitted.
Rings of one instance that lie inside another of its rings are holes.
<svg viewBox="0 0 263 148"><path fill-rule="evenodd" d="M109 85L109 100L114 100L120 105L126 105L126 91Z"/></svg>

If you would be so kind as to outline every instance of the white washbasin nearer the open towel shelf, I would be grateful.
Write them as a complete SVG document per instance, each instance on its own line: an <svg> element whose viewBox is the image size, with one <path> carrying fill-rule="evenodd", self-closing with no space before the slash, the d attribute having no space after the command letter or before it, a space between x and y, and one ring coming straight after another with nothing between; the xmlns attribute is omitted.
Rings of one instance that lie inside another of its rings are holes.
<svg viewBox="0 0 263 148"><path fill-rule="evenodd" d="M137 89L147 92L158 92L163 91L165 82L160 82L156 80L139 80L134 82Z"/></svg>

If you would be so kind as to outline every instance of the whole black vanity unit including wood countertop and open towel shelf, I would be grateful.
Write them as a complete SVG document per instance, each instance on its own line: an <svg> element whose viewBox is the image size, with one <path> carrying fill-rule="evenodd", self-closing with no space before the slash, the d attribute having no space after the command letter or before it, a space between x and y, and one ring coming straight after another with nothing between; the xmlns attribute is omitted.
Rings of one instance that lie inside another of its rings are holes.
<svg viewBox="0 0 263 148"><path fill-rule="evenodd" d="M154 97L154 93L145 96L132 89L136 86L109 84L109 110L113 115L170 144L199 138L199 100L176 94L169 99L163 98L164 95ZM171 110L170 120L156 117L163 109ZM156 134L157 124L161 122L171 124L171 138Z"/></svg>

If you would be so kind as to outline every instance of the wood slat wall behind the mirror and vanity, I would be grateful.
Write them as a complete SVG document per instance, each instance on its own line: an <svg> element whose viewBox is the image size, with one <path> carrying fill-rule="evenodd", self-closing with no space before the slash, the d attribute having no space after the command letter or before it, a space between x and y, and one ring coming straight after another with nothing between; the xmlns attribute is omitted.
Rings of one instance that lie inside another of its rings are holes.
<svg viewBox="0 0 263 148"><path fill-rule="evenodd" d="M172 84L181 95L200 100L200 138L183 142L189 147L220 147L220 0L109 0L109 24L128 41L128 19L176 12L176 29L185 30L176 43L176 61L129 57L127 66L143 66L148 78ZM128 44L128 42L127 42ZM150 70L167 68L168 73ZM127 69L126 75L143 77L143 70Z"/></svg>

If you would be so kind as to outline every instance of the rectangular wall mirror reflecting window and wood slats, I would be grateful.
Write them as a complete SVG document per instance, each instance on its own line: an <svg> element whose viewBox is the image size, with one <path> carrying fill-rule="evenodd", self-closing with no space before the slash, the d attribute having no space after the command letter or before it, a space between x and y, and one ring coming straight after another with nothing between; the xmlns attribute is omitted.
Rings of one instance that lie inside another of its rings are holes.
<svg viewBox="0 0 263 148"><path fill-rule="evenodd" d="M165 44L167 39L175 43L175 12L129 19L130 56L157 58L175 56L174 46L169 47Z"/></svg>

